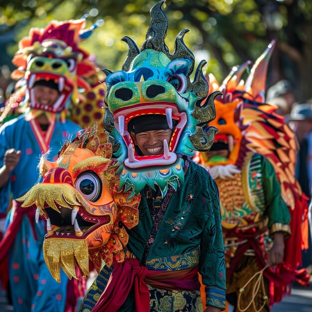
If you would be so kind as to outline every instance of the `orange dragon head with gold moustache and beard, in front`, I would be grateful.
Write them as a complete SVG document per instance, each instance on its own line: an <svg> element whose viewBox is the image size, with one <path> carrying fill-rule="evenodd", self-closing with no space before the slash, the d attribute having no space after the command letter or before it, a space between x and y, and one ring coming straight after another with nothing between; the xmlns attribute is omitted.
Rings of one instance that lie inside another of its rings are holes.
<svg viewBox="0 0 312 312"><path fill-rule="evenodd" d="M112 166L112 146L100 144L94 125L64 144L58 159L41 157L39 168L43 183L33 186L23 197L22 206L37 206L36 220L47 220L43 243L45 262L56 281L60 268L69 279L76 278L78 265L89 273L89 259L97 271L102 259L108 267L113 259L122 262L128 234L139 221L139 200L119 193L119 180Z"/></svg>

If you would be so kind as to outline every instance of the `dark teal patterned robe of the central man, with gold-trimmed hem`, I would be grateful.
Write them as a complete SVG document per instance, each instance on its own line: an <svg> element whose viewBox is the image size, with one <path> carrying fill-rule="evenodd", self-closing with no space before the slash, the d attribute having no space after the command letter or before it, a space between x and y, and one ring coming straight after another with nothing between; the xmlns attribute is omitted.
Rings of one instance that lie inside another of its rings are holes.
<svg viewBox="0 0 312 312"><path fill-rule="evenodd" d="M155 192L148 187L141 192L139 224L128 230L127 247L149 270L175 271L198 265L207 305L223 310L225 262L218 188L210 174L194 162L187 160L184 171L183 185L177 191L169 188L163 199L152 199ZM101 272L95 281L97 287L88 292L85 303L88 301L89 309L103 292L104 280ZM150 311L202 311L199 290L149 289ZM129 294L119 311L136 311L134 293Z"/></svg>

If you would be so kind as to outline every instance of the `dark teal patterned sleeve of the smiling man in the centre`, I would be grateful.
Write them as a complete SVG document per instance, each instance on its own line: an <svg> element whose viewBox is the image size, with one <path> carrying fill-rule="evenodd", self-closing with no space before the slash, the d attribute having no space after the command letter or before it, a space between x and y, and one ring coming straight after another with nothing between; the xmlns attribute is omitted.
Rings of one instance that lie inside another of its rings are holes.
<svg viewBox="0 0 312 312"><path fill-rule="evenodd" d="M208 218L200 242L199 273L205 285L206 305L225 309L225 260L221 227L219 192L208 175L207 187L200 198ZM204 183L203 183L204 184Z"/></svg>

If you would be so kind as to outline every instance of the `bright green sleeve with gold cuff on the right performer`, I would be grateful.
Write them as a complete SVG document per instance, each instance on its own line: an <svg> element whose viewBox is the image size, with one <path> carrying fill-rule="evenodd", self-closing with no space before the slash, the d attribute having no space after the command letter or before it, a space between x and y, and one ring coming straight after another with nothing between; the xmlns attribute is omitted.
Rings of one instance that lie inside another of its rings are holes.
<svg viewBox="0 0 312 312"><path fill-rule="evenodd" d="M269 217L270 235L276 232L285 232L291 235L290 220L291 215L288 207L281 195L281 186L277 180L273 165L263 157L262 180Z"/></svg>

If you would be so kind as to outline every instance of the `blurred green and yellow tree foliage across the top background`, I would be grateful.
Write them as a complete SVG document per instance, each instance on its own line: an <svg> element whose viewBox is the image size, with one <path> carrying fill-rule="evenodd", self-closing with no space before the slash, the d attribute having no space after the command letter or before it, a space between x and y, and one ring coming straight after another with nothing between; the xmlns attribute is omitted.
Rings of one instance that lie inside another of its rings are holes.
<svg viewBox="0 0 312 312"><path fill-rule="evenodd" d="M140 47L150 23L149 10L155 3L156 0L10 0L0 7L0 32L15 27L18 41L30 27L43 27L52 19L89 14L87 22L91 25L102 18L103 27L96 29L84 44L95 53L99 67L116 70L128 49L120 38L128 35ZM305 86L307 80L312 80L311 0L167 0L164 11L169 20L169 49L173 50L178 31L190 28L185 43L196 52L197 61L208 60L208 72L219 80L232 66L248 59L254 61L272 39L277 39L271 84L287 78L297 87L299 100L312 97L311 87ZM16 50L16 44L9 46L11 54ZM302 80L295 78L298 76Z"/></svg>

